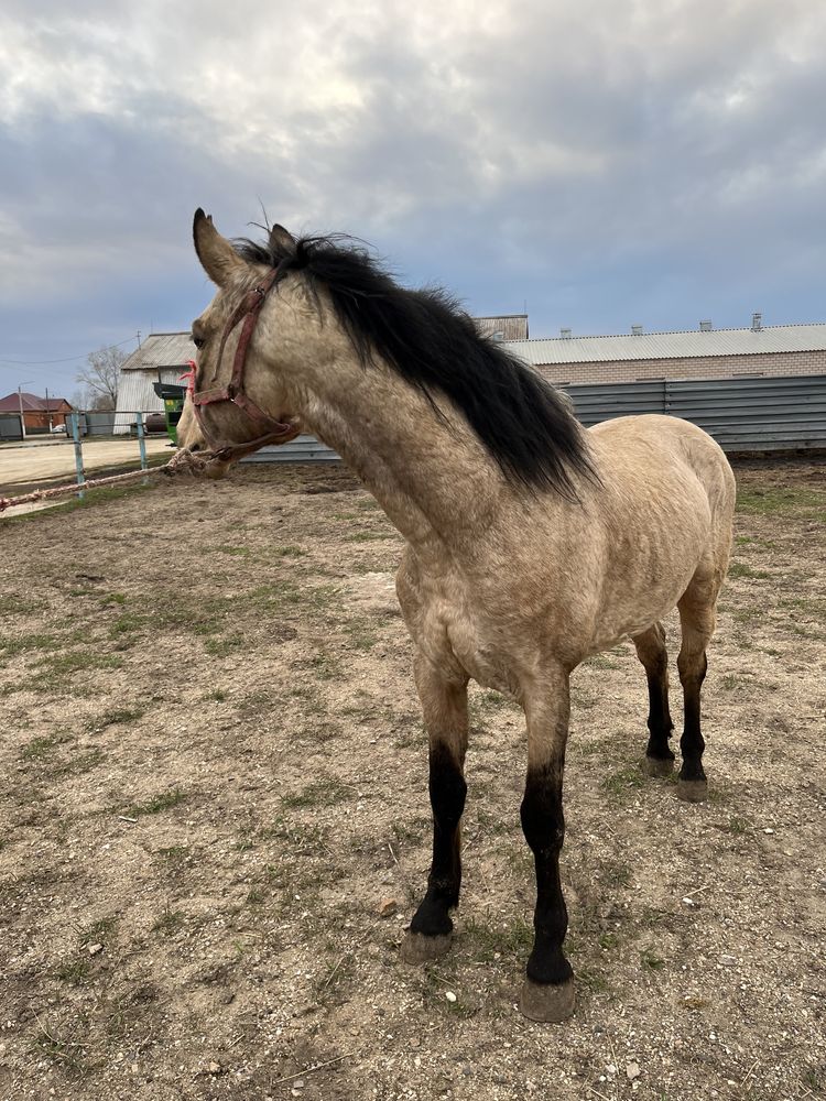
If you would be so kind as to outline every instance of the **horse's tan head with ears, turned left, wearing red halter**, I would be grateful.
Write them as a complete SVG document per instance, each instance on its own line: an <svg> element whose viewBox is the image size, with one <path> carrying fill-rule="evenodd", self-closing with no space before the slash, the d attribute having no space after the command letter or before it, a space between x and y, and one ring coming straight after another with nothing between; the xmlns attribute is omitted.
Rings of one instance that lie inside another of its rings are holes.
<svg viewBox="0 0 826 1101"><path fill-rule="evenodd" d="M301 430L295 378L283 361L296 321L303 320L306 333L307 304L296 293L300 280L286 275L286 263L282 274L278 263L247 260L203 210L195 214L194 238L202 266L218 291L192 325L197 370L177 438L187 455L208 456L206 472L220 477L241 456L264 444L286 443ZM271 230L269 244L270 253L284 261L295 248L280 226Z"/></svg>

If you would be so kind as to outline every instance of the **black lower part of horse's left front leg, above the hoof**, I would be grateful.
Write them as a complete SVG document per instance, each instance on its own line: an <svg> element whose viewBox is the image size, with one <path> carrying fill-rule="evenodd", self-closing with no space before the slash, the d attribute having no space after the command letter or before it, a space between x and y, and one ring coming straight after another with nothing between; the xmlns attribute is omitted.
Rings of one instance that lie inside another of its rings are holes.
<svg viewBox="0 0 826 1101"><path fill-rule="evenodd" d="M410 923L411 931L426 937L453 929L448 911L458 905L461 886L459 822L467 784L455 754L444 744L431 749L431 806L433 807L433 862L427 893Z"/></svg>

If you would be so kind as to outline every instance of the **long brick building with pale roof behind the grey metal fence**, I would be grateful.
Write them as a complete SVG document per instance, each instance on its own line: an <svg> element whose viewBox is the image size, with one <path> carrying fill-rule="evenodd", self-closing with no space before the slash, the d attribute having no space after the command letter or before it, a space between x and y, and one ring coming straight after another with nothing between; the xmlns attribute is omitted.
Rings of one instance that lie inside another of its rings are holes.
<svg viewBox="0 0 826 1101"><path fill-rule="evenodd" d="M748 379L826 375L826 324L715 329L710 321L687 333L643 333L606 337L573 336L511 340L511 351L551 382L643 382L677 379Z"/></svg>

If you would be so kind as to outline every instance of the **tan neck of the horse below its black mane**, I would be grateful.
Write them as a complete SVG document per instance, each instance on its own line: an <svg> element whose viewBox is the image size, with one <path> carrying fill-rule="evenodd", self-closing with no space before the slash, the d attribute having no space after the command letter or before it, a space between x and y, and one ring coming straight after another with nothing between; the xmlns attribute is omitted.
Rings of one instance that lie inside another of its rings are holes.
<svg viewBox="0 0 826 1101"><path fill-rule="evenodd" d="M305 401L307 425L376 497L434 567L461 556L494 522L502 478L446 399L445 423L420 391L382 367L337 364Z"/></svg>

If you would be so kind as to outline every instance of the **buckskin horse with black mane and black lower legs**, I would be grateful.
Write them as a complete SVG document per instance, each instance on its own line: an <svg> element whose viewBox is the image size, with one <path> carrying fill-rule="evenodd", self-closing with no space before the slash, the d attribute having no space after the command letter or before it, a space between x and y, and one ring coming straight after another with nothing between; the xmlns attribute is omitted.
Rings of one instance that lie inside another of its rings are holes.
<svg viewBox="0 0 826 1101"><path fill-rule="evenodd" d="M197 375L177 428L180 461L220 476L247 451L306 428L406 541L396 591L414 644L433 810L407 962L450 946L468 683L521 705L520 815L536 902L520 1009L563 1021L575 1007L559 881L569 677L630 637L649 690L642 767L670 776L662 620L676 607L676 795L706 798L700 688L731 549L731 468L710 436L675 417L626 416L586 432L567 399L480 336L447 292L402 287L361 243L294 238L281 226L268 235L230 241L195 215L195 250L217 292L192 325Z"/></svg>

